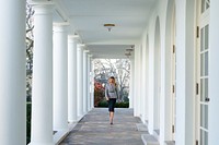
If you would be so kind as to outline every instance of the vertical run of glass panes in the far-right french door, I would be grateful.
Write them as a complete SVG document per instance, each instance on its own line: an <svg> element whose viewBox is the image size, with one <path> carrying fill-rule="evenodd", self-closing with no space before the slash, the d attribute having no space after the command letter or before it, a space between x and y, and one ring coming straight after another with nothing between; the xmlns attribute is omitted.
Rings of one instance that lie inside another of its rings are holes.
<svg viewBox="0 0 219 145"><path fill-rule="evenodd" d="M199 141L208 145L208 24L200 29L200 99L199 99Z"/></svg>

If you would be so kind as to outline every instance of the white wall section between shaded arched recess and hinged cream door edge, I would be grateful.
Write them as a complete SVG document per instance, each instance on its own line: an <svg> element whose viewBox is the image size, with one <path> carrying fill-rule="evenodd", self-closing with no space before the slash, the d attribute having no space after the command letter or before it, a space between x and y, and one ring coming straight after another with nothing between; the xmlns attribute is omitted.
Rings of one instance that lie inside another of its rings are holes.
<svg viewBox="0 0 219 145"><path fill-rule="evenodd" d="M162 11L166 12L165 17L163 19L164 27L164 38L161 38L161 135L160 140L172 141L172 125L173 125L173 96L172 96L172 48L173 48L173 9L174 0L169 0L163 3L165 5Z"/></svg>

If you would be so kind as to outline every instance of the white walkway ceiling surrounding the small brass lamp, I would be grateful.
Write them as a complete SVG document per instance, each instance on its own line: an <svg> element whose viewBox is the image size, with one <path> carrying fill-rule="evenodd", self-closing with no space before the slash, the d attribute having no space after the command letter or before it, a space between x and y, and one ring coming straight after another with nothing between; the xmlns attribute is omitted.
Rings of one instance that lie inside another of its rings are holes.
<svg viewBox="0 0 219 145"><path fill-rule="evenodd" d="M126 58L140 39L158 0L60 0L72 29L95 58ZM55 22L60 21L54 16ZM103 25L113 23L111 32Z"/></svg>

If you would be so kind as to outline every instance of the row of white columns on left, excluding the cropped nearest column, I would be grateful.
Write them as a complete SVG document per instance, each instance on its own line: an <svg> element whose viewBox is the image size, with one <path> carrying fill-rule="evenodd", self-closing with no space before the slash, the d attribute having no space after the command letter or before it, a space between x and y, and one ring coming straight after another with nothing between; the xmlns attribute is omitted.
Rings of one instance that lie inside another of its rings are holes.
<svg viewBox="0 0 219 145"><path fill-rule="evenodd" d="M77 36L68 36L68 24L53 25L51 7L34 7L31 145L54 144L54 131L67 133L68 122L77 122L92 108L88 108L89 51Z"/></svg>

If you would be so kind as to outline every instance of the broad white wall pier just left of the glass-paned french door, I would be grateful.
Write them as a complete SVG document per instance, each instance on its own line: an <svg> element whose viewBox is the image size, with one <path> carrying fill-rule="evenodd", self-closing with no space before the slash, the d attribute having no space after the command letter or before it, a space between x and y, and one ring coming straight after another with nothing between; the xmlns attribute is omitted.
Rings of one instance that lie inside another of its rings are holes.
<svg viewBox="0 0 219 145"><path fill-rule="evenodd" d="M176 1L176 144L194 144L194 1ZM186 14L186 15L185 15Z"/></svg>

